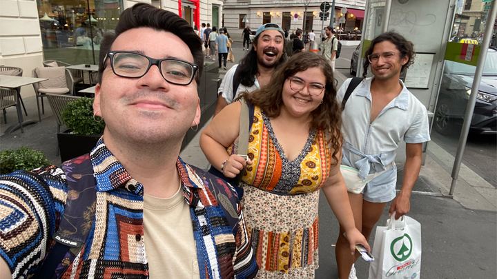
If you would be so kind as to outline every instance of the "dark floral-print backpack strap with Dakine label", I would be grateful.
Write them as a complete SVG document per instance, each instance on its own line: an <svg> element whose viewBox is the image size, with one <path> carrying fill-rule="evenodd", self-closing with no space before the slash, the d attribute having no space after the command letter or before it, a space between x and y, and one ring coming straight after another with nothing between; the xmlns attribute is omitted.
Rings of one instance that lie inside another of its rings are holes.
<svg viewBox="0 0 497 279"><path fill-rule="evenodd" d="M97 180L89 154L63 163L67 177L67 195L64 214L52 235L57 243L50 247L35 278L60 278L70 265L61 265L68 258L72 262L84 247L95 222Z"/></svg>

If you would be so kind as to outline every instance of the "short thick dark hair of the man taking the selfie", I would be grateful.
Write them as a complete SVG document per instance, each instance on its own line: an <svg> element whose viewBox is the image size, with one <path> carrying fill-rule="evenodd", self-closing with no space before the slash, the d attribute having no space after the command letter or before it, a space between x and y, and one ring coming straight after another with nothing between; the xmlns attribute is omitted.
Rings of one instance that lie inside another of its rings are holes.
<svg viewBox="0 0 497 279"><path fill-rule="evenodd" d="M117 23L115 34L106 34L100 44L99 56L99 83L102 82L104 74L105 61L107 52L110 51L115 39L120 34L134 28L152 28L158 31L167 31L175 34L182 39L193 56L193 63L197 64L198 70L195 74L197 85L200 84L200 77L204 69L204 54L202 53L202 41L193 31L193 28L184 19L174 12L155 8L147 3L137 3L131 8L127 8L121 13Z"/></svg>

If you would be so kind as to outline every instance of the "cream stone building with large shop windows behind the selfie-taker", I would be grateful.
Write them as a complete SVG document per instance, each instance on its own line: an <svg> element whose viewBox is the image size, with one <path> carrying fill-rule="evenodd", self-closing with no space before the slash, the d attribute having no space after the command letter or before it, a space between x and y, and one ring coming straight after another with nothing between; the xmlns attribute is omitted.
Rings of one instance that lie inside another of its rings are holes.
<svg viewBox="0 0 497 279"><path fill-rule="evenodd" d="M101 35L139 2L175 12L192 27L222 21L222 0L0 0L0 65L22 68L23 76L46 60L96 65Z"/></svg>

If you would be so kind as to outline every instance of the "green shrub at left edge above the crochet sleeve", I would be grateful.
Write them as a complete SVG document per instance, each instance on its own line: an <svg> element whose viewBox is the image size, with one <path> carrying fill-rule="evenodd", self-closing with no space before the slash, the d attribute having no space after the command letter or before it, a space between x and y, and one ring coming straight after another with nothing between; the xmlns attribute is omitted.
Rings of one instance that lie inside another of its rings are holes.
<svg viewBox="0 0 497 279"><path fill-rule="evenodd" d="M48 161L43 152L26 146L0 153L0 174L10 174L17 170L30 171L46 165L52 165L52 163Z"/></svg>

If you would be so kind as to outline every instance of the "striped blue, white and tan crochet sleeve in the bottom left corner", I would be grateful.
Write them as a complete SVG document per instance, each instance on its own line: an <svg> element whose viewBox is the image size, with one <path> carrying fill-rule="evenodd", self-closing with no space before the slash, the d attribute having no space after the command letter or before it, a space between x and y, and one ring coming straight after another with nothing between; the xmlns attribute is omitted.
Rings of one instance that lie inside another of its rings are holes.
<svg viewBox="0 0 497 279"><path fill-rule="evenodd" d="M0 176L0 256L12 278L37 270L66 204L66 176L56 166Z"/></svg>

